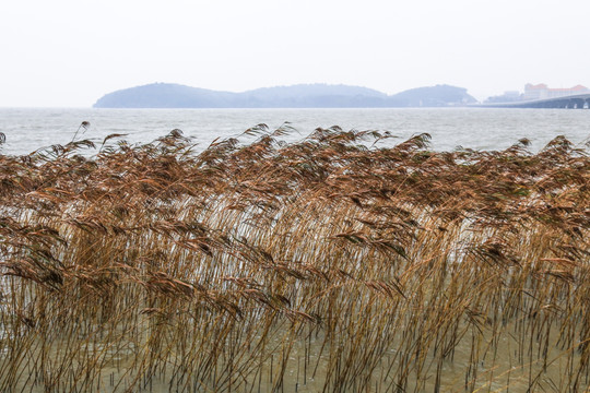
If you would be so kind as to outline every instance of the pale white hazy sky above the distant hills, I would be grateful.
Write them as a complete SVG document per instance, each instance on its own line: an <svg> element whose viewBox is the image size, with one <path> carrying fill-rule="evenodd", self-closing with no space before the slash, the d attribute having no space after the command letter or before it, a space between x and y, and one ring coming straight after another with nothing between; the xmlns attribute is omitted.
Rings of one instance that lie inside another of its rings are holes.
<svg viewBox="0 0 590 393"><path fill-rule="evenodd" d="M87 107L153 82L445 83L479 99L590 86L589 17L588 0L5 1L0 107Z"/></svg>

